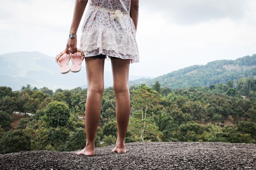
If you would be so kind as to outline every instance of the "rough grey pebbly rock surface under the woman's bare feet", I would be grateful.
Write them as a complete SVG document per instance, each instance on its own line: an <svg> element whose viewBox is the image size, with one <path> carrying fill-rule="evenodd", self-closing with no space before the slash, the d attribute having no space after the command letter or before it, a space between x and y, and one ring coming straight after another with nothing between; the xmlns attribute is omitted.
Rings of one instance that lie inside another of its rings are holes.
<svg viewBox="0 0 256 170"><path fill-rule="evenodd" d="M256 144L135 142L126 154L114 146L95 156L74 152L30 151L0 155L0 170L256 170Z"/></svg>

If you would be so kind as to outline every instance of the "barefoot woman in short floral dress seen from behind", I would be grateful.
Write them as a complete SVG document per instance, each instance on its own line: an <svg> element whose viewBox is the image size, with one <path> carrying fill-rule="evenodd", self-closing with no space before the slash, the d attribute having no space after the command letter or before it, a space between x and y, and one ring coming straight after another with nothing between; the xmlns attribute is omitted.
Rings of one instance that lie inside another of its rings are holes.
<svg viewBox="0 0 256 170"><path fill-rule="evenodd" d="M85 106L86 146L76 155L95 155L94 140L101 114L105 59L111 60L116 99L118 136L112 152L125 153L125 136L130 116L128 86L130 63L139 62L135 34L139 0L76 0L66 53L77 52L76 31L86 5L80 48L85 55L88 82Z"/></svg>

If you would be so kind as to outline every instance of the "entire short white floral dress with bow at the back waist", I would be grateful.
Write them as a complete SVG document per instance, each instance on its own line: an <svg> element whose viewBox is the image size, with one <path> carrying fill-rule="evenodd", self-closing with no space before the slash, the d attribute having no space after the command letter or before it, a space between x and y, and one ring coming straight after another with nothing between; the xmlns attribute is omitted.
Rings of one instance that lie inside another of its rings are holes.
<svg viewBox="0 0 256 170"><path fill-rule="evenodd" d="M89 0L88 4L80 41L85 57L103 54L139 62L131 0Z"/></svg>

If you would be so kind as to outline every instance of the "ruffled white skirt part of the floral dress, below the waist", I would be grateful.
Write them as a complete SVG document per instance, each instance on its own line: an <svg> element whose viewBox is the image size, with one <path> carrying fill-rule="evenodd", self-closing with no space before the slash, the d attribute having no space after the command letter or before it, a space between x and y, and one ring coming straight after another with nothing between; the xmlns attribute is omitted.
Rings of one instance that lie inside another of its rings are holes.
<svg viewBox="0 0 256 170"><path fill-rule="evenodd" d="M125 28L118 20L110 20L110 14L91 7L83 24L80 48L85 57L103 54L139 62L135 26L130 16L123 17ZM107 57L108 59L108 57Z"/></svg>

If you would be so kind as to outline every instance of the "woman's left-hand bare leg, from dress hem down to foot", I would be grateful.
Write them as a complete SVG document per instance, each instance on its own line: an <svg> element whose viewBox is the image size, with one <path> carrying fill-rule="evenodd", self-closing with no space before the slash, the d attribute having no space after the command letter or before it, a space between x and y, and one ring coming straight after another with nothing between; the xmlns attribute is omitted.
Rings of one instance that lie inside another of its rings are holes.
<svg viewBox="0 0 256 170"><path fill-rule="evenodd" d="M101 115L101 97L104 90L104 59L85 57L87 75L87 99L85 104L86 146L76 155L92 156L94 141Z"/></svg>

